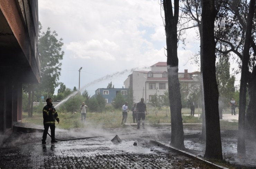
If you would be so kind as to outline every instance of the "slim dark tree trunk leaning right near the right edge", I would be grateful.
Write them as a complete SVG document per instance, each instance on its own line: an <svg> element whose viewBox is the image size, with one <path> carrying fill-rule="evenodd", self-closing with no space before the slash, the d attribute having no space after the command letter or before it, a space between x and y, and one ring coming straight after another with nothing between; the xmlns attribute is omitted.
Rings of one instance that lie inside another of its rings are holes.
<svg viewBox="0 0 256 169"><path fill-rule="evenodd" d="M246 153L245 148L245 109L246 109L246 90L248 82L248 63L249 63L249 50L250 41L252 38L252 25L255 12L255 0L250 1L249 11L247 15L246 31L245 31L245 44L242 60L242 71L239 89L239 120L238 120L238 140L237 152L241 154Z"/></svg>

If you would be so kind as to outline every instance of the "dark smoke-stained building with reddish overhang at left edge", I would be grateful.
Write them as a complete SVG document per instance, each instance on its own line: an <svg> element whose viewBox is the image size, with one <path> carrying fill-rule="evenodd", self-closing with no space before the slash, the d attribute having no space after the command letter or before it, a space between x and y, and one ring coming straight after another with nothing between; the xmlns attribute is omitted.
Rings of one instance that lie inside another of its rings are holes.
<svg viewBox="0 0 256 169"><path fill-rule="evenodd" d="M22 84L38 83L38 1L0 1L0 135L22 120Z"/></svg>

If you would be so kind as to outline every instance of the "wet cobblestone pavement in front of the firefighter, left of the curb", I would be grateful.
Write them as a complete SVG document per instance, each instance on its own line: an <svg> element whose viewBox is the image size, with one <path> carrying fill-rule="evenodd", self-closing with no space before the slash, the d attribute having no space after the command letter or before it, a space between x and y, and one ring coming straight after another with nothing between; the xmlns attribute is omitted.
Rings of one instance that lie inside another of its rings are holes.
<svg viewBox="0 0 256 169"><path fill-rule="evenodd" d="M55 144L47 138L46 145L41 144L42 133L13 133L0 147L0 168L211 168L149 144L149 139L161 138L161 132L148 136L147 130L134 131L132 135L118 135L122 142L112 142L114 136L110 135ZM56 137L70 135L61 132Z"/></svg>

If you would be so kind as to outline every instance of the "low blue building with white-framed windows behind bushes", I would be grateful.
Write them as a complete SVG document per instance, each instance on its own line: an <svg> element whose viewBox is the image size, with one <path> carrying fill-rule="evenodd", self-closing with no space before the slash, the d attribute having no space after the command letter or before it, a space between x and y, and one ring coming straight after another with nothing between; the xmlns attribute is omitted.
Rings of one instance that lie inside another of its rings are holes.
<svg viewBox="0 0 256 169"><path fill-rule="evenodd" d="M98 88L95 91L95 95L101 94L105 98L106 105L112 103L113 99L117 96L118 93L121 93L122 96L126 99L128 97L129 89L128 88Z"/></svg>

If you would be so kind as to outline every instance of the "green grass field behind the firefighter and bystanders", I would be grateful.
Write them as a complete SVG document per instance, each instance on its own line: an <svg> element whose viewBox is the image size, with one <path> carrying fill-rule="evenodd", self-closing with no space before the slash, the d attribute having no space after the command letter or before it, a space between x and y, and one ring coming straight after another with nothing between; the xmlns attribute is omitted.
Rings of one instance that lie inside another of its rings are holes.
<svg viewBox="0 0 256 169"><path fill-rule="evenodd" d="M60 123L56 123L57 128L62 129L71 129L71 128L117 128L122 127L122 111L112 109L108 107L102 113L98 112L88 112L86 113L86 123L81 122L81 114L71 112L65 112L65 110L59 109L58 115L60 117ZM202 119L198 119L198 115L190 116L186 114L190 114L190 109L183 108L182 119L183 123L202 123ZM195 111L197 113L197 110ZM201 113L201 112L200 112ZM22 114L22 122L30 123L36 125L43 125L43 114L42 110L36 111L33 113L33 117L28 117L27 113ZM128 112L127 123L133 123L132 120L132 112ZM145 123L150 124L163 124L171 123L171 115L169 108L163 108L161 110L155 108L148 108L148 113L146 115ZM227 122L220 121L220 126L238 126L238 122Z"/></svg>

